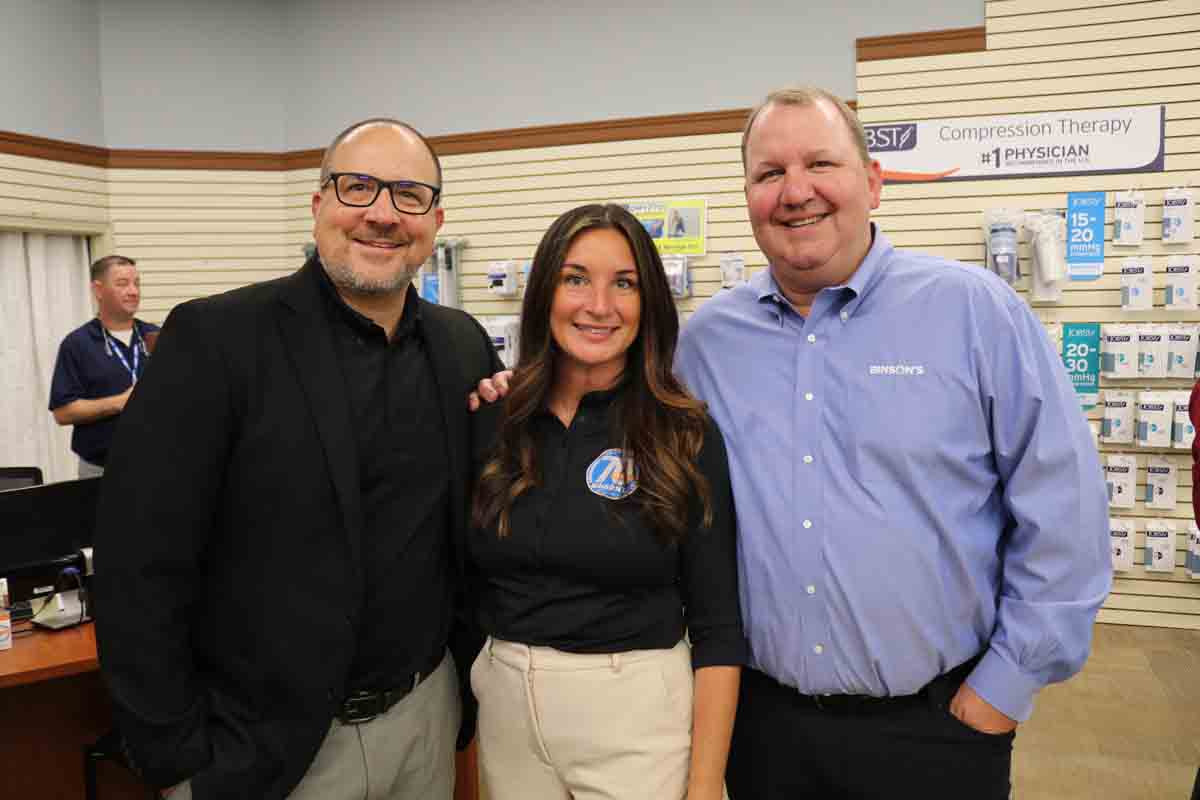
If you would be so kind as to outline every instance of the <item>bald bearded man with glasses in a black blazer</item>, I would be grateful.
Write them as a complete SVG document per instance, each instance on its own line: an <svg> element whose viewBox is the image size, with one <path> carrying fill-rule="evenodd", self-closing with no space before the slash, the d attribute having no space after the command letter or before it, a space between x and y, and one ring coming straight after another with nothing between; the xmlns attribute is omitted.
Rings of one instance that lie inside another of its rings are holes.
<svg viewBox="0 0 1200 800"><path fill-rule="evenodd" d="M312 196L317 255L176 307L125 410L101 667L130 760L173 800L452 796L474 720L455 661L480 644L467 396L500 365L410 285L440 186L415 130L347 128Z"/></svg>

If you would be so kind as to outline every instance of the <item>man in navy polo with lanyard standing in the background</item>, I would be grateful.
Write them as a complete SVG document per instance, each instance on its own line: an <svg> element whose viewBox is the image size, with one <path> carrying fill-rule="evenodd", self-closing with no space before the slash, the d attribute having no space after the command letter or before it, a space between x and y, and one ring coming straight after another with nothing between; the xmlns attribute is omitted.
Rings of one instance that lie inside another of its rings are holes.
<svg viewBox="0 0 1200 800"><path fill-rule="evenodd" d="M134 319L142 299L132 258L106 255L91 265L96 318L67 333L50 383L50 411L73 425L79 477L104 473L108 446L133 385L145 371L158 326Z"/></svg>

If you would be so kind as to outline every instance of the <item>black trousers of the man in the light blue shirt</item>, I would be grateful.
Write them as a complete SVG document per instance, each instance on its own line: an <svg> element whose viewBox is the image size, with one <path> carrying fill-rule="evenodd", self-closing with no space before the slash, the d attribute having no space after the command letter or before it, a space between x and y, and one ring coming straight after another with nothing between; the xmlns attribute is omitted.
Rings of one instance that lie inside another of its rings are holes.
<svg viewBox="0 0 1200 800"><path fill-rule="evenodd" d="M968 672L954 669L911 697L834 698L821 708L744 669L731 800L1008 800L1015 732L979 733L949 711Z"/></svg>

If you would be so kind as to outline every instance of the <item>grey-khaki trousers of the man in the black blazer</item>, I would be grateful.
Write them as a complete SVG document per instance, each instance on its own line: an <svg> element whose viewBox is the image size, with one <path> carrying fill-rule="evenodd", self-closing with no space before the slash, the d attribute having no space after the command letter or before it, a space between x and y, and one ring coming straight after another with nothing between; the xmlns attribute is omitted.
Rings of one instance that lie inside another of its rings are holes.
<svg viewBox="0 0 1200 800"><path fill-rule="evenodd" d="M452 800L462 718L458 674L446 654L432 675L386 714L330 723L290 800ZM191 800L191 782L170 800Z"/></svg>

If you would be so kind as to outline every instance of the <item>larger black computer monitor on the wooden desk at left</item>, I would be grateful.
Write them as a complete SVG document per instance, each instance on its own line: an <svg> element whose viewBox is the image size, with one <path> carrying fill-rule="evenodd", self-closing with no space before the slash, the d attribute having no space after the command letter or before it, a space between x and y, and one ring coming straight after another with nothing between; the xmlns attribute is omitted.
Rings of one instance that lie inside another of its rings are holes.
<svg viewBox="0 0 1200 800"><path fill-rule="evenodd" d="M98 477L0 492L0 578L11 602L79 588L98 497Z"/></svg>

